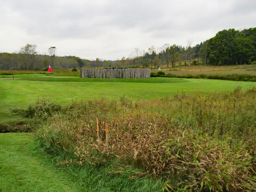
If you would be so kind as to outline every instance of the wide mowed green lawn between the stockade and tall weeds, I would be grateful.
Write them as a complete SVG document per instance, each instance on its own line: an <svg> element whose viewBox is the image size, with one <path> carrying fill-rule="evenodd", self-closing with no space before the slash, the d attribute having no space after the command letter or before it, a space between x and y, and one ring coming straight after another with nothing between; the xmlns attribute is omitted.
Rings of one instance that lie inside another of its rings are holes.
<svg viewBox="0 0 256 192"><path fill-rule="evenodd" d="M10 75L0 75L6 78ZM121 96L136 100L153 100L174 94L206 94L242 90L256 86L255 82L238 82L215 79L84 79L79 75L30 74L15 75L19 79L0 80L0 123L20 120L12 109L25 109L28 103L49 99L59 103L98 98L119 99Z"/></svg>

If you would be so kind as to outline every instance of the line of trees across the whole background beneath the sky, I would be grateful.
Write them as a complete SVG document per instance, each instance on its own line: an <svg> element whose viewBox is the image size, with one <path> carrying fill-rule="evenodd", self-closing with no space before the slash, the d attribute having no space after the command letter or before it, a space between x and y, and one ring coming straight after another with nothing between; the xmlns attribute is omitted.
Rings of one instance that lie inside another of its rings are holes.
<svg viewBox="0 0 256 192"><path fill-rule="evenodd" d="M138 48L128 58L121 60L81 59L77 56L56 56L56 47L48 54L38 54L37 45L26 44L17 53L0 53L1 70L48 70L49 65L59 68L81 67L145 67L174 68L181 65L232 65L256 63L256 28L238 31L219 31L215 37L192 46L188 39L186 47L164 44L147 50Z"/></svg>

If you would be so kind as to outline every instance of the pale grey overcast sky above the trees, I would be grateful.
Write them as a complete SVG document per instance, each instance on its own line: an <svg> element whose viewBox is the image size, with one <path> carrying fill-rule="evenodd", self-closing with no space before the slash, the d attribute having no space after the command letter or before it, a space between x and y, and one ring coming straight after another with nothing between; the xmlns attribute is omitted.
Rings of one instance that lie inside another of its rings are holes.
<svg viewBox="0 0 256 192"><path fill-rule="evenodd" d="M0 0L0 52L117 60L134 49L193 45L256 27L256 0Z"/></svg>

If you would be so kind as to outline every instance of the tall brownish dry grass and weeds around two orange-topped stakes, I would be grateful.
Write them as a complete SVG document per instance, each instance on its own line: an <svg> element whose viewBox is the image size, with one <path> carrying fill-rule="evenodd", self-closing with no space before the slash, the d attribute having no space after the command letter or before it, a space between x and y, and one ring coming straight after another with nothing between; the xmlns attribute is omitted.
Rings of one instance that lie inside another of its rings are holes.
<svg viewBox="0 0 256 192"><path fill-rule="evenodd" d="M45 114L44 109L48 108L35 107L34 118L39 120L36 114ZM45 122L47 128L39 133L49 146L75 150L77 158L67 159L66 164L102 165L119 158L144 170L138 175L165 179L173 190L256 189L255 87L246 92L237 87L224 94L177 94L154 101L121 97L119 101L72 102Z"/></svg>

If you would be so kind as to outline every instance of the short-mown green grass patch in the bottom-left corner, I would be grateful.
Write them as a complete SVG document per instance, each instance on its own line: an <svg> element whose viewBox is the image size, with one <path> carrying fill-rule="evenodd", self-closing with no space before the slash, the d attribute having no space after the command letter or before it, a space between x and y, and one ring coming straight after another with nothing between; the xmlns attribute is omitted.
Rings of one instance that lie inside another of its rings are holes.
<svg viewBox="0 0 256 192"><path fill-rule="evenodd" d="M82 191L45 162L27 133L0 134L0 191Z"/></svg>

